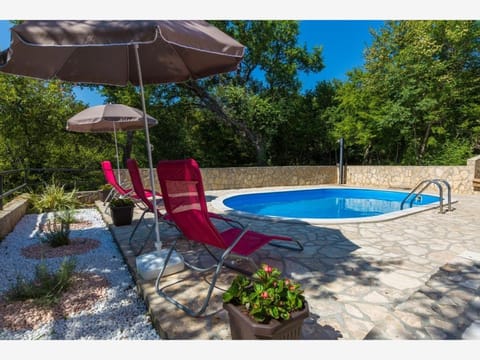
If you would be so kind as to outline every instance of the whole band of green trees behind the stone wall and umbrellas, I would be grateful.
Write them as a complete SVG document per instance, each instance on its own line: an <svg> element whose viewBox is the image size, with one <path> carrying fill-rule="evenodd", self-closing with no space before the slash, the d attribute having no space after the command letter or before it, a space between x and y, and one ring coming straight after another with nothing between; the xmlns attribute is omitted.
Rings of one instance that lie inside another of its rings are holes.
<svg viewBox="0 0 480 360"><path fill-rule="evenodd" d="M372 31L362 69L306 93L300 72L320 72L324 63L321 46L299 43L298 21L212 23L246 46L245 57L236 71L145 86L147 112L159 121L150 129L156 161L334 164L339 138L348 164L458 164L480 152L478 21L388 21ZM138 87L88 87L105 102L141 108ZM72 89L0 74L0 170L100 170L100 161L114 159L112 133L65 131L67 119L86 106ZM133 157L146 166L144 131L117 138L123 164ZM104 182L100 171L59 176L82 190ZM32 171L27 178L35 189L45 181ZM23 178L6 181L13 188Z"/></svg>

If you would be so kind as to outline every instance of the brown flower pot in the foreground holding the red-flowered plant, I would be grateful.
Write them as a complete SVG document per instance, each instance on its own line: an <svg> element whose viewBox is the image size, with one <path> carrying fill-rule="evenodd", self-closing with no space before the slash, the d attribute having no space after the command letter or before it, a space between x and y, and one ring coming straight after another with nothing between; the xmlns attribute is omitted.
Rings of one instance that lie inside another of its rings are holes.
<svg viewBox="0 0 480 360"><path fill-rule="evenodd" d="M224 303L223 308L228 312L232 340L298 340L303 320L310 314L305 302L305 307L293 312L288 320L273 319L268 324L260 324L240 306Z"/></svg>

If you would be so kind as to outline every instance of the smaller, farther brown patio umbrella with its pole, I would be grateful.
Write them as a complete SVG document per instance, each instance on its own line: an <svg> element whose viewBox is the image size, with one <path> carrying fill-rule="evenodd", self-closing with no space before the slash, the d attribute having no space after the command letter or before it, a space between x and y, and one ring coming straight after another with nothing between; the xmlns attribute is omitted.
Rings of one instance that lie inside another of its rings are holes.
<svg viewBox="0 0 480 360"><path fill-rule="evenodd" d="M147 114L148 127L158 124L157 119ZM67 120L67 130L81 133L113 132L117 177L120 178L117 131L139 130L144 128L143 112L123 104L106 104L89 107Z"/></svg>

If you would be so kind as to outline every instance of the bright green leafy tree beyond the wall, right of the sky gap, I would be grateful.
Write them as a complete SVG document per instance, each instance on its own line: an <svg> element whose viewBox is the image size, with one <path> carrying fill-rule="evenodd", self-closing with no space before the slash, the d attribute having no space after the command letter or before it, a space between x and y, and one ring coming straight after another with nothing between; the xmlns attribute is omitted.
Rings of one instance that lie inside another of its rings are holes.
<svg viewBox="0 0 480 360"><path fill-rule="evenodd" d="M362 161L463 163L479 151L480 22L390 21L339 90ZM355 135L357 133L357 135Z"/></svg>

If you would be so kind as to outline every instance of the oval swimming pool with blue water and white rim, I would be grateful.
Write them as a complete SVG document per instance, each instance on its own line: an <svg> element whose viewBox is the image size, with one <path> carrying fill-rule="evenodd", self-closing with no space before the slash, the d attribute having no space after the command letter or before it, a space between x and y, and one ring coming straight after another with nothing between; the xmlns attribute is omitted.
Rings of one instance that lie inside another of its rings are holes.
<svg viewBox="0 0 480 360"><path fill-rule="evenodd" d="M241 216L308 223L381 221L439 206L439 196L421 194L404 203L407 191L322 187L226 195L212 204Z"/></svg>

